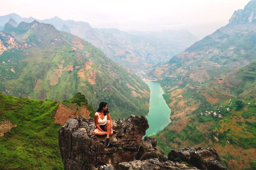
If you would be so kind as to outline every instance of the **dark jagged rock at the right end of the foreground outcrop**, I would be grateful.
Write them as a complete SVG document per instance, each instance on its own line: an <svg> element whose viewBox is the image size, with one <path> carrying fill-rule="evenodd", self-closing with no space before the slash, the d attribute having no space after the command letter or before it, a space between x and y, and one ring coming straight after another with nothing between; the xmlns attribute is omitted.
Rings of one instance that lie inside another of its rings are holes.
<svg viewBox="0 0 256 170"><path fill-rule="evenodd" d="M211 148L203 149L201 147L194 147L175 149L168 154L168 160L185 161L203 170L226 170L221 163L217 151Z"/></svg>

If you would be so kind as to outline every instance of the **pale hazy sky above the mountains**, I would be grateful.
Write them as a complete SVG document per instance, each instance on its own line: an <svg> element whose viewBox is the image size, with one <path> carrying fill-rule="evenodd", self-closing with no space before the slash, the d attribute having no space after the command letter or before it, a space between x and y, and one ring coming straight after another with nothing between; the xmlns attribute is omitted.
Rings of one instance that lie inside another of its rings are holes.
<svg viewBox="0 0 256 170"><path fill-rule="evenodd" d="M249 0L1 0L0 16L17 13L37 19L59 16L94 28L123 31L188 29L203 36L228 23Z"/></svg>

